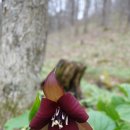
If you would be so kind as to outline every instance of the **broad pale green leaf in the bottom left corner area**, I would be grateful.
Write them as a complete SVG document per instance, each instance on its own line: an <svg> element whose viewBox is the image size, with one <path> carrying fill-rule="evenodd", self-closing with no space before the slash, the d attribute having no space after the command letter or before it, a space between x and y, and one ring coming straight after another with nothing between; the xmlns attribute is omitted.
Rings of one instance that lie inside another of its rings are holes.
<svg viewBox="0 0 130 130"><path fill-rule="evenodd" d="M4 130L15 130L29 125L29 111L26 111L22 115L8 120L4 125Z"/></svg>

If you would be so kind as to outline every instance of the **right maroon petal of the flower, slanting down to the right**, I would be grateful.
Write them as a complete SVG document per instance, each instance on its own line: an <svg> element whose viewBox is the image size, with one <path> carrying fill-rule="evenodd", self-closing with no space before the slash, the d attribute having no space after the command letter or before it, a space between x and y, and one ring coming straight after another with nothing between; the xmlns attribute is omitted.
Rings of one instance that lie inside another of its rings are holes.
<svg viewBox="0 0 130 130"><path fill-rule="evenodd" d="M68 114L73 120L83 123L88 119L88 115L84 108L80 105L78 100L71 95L66 93L59 100L58 104L66 114Z"/></svg>

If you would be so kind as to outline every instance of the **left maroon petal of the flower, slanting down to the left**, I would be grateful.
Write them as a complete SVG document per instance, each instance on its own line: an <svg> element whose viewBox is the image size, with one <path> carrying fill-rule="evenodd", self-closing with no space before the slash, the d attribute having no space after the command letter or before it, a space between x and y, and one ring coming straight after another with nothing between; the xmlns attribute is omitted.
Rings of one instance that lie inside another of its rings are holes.
<svg viewBox="0 0 130 130"><path fill-rule="evenodd" d="M51 117L54 115L57 104L49 99L43 98L38 112L30 122L30 128L40 130L49 123Z"/></svg>

